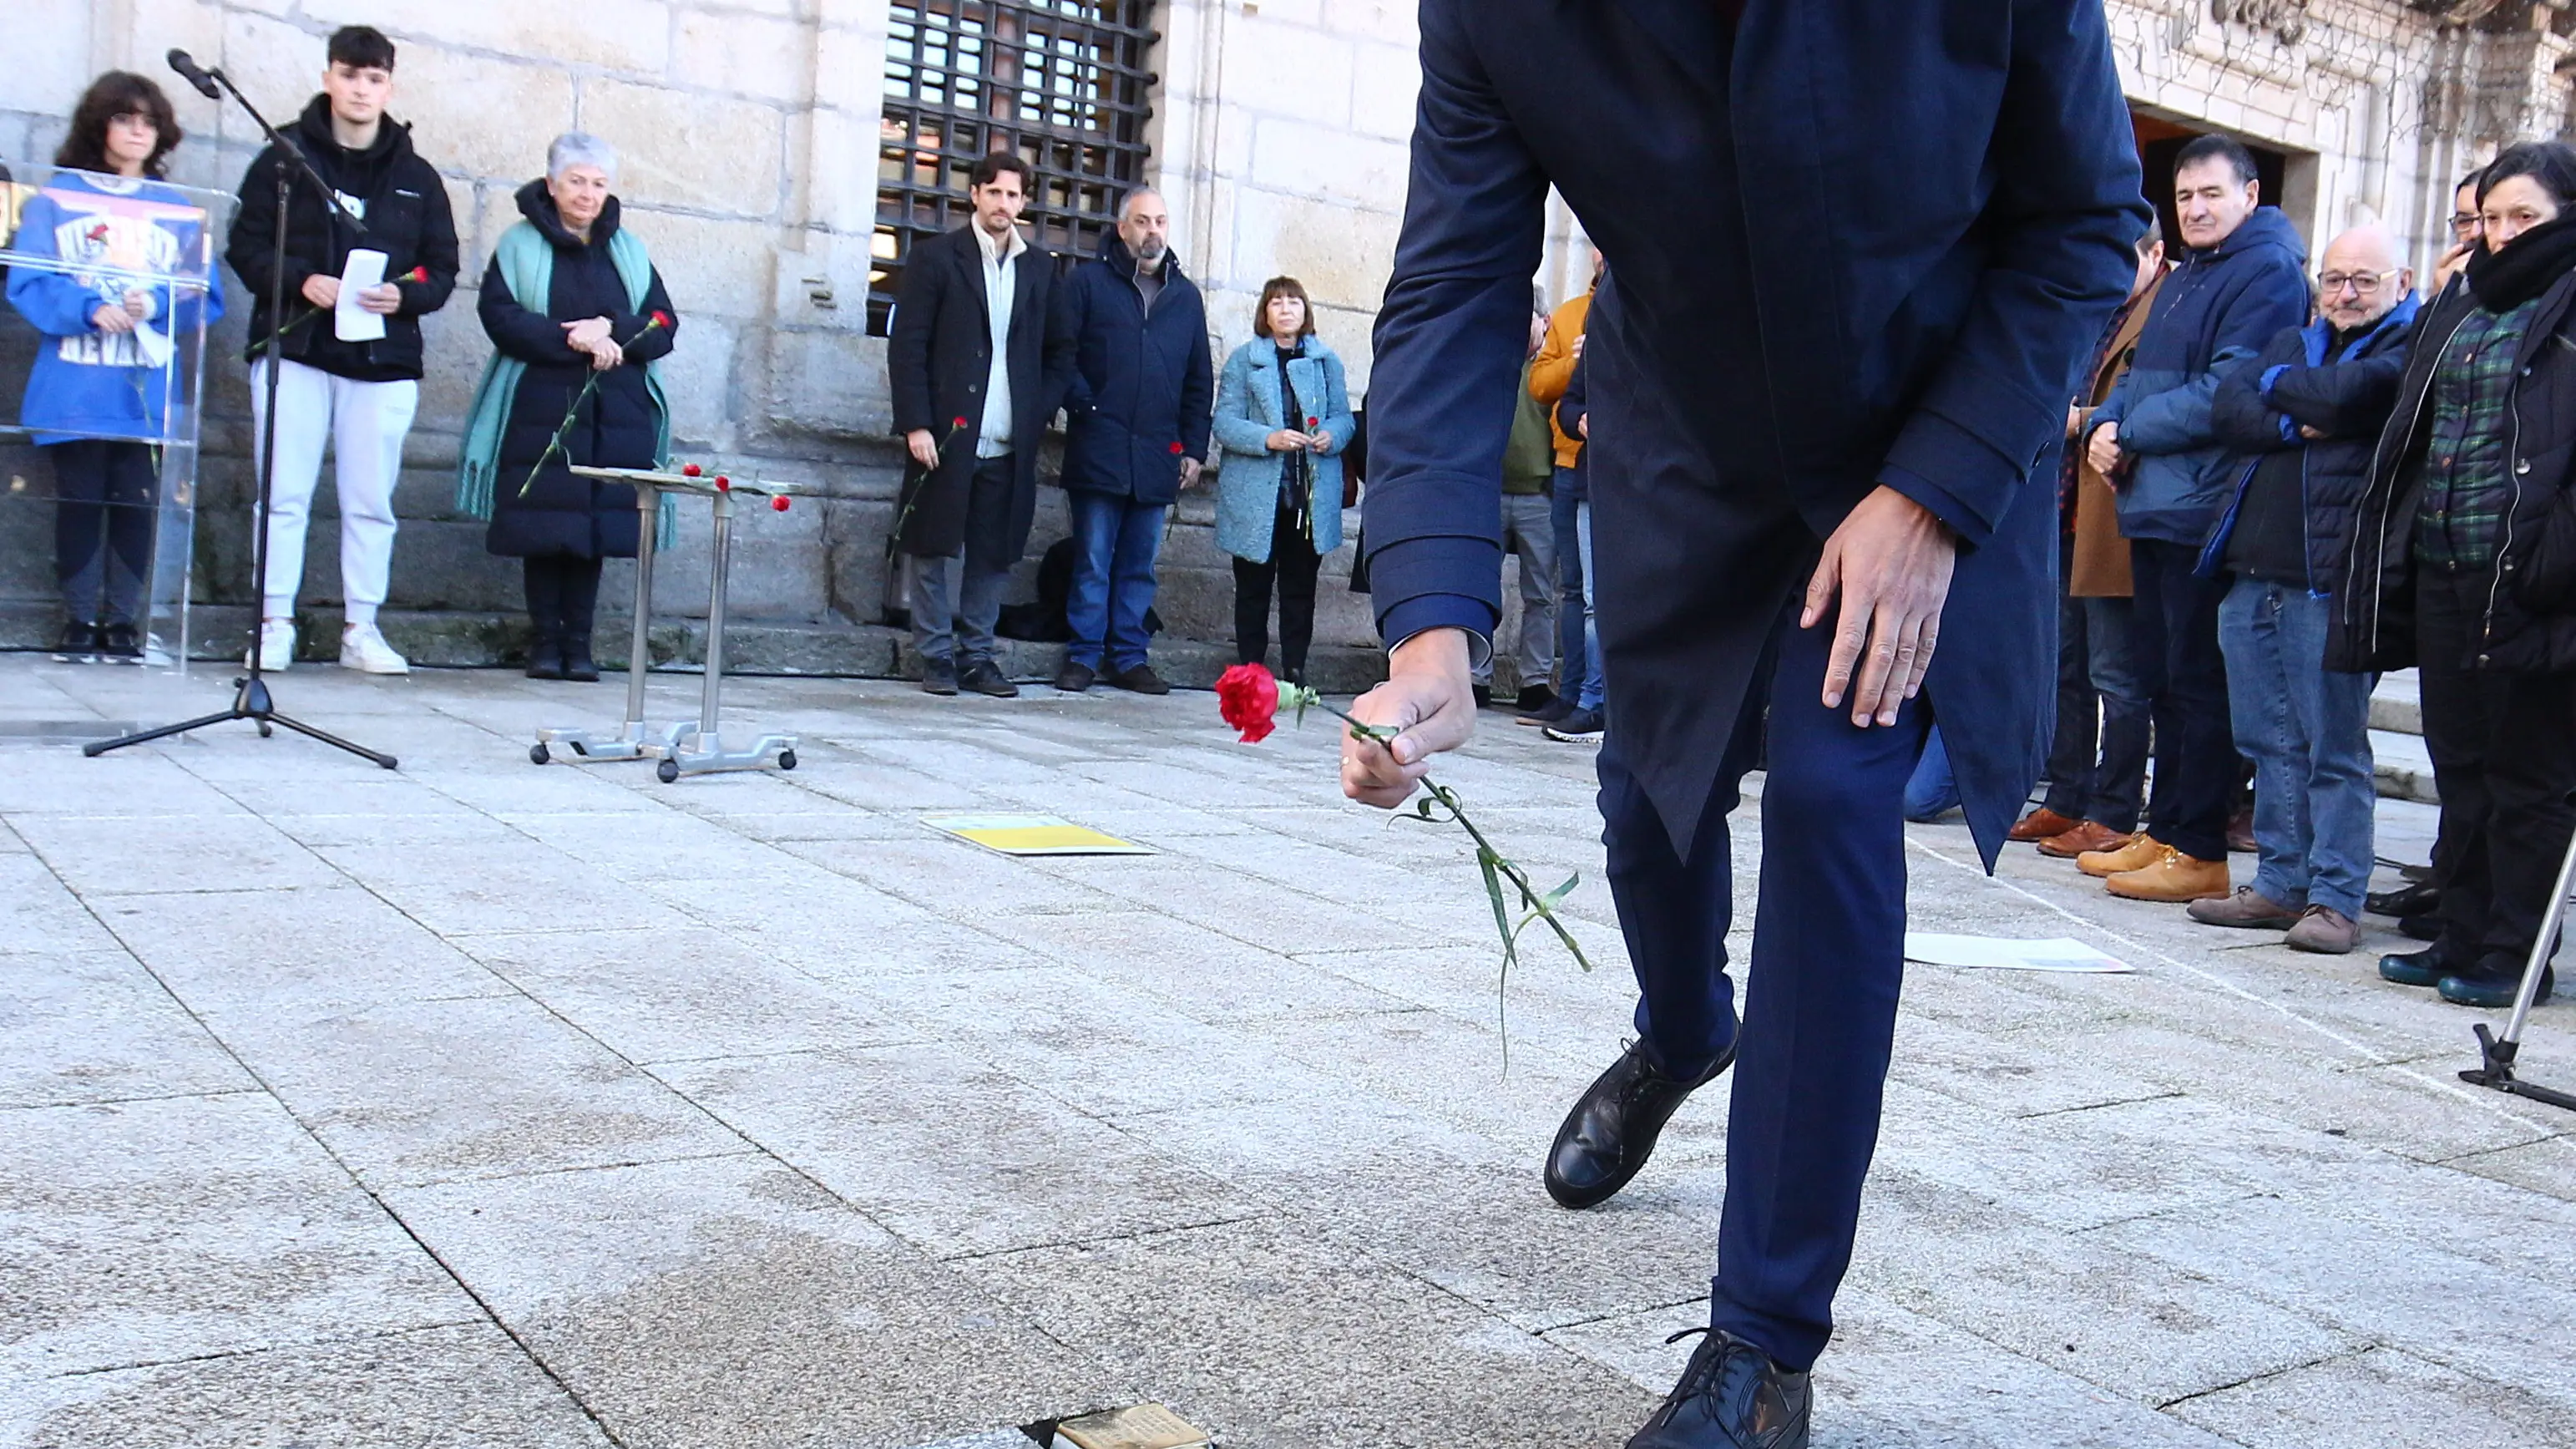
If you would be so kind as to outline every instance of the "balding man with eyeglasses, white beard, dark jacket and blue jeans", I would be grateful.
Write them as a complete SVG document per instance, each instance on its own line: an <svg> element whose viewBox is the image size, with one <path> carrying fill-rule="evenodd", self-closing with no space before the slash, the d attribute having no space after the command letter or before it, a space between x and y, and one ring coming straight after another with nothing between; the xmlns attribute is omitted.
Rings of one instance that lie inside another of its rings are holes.
<svg viewBox="0 0 2576 1449"><path fill-rule="evenodd" d="M2329 588L2352 536L2416 317L2414 268L2378 227L2326 242L2316 320L2282 327L2210 400L2236 492L2200 552L2223 572L2218 645L2236 750L2254 761L2254 884L2192 902L2192 920L2287 931L2287 946L2360 944L2378 786L2370 676L2326 668Z"/></svg>

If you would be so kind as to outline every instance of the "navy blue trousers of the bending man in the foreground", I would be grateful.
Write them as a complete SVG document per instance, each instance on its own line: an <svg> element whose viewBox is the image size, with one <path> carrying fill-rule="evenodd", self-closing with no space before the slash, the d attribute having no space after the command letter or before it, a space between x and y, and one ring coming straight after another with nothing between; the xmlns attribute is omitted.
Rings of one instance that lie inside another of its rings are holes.
<svg viewBox="0 0 2576 1449"><path fill-rule="evenodd" d="M1649 804L1618 748L1602 743L1602 841L1646 1057L1695 1078L1736 1047L1726 1116L1726 1212L1710 1323L1806 1369L1834 1333L1834 1289L1852 1263L1860 1181L1878 1147L1878 1106L1904 985L1906 843L1901 802L1929 712L1860 730L1850 704L1824 709L1832 616L1772 634L1757 686L1718 768L1690 856ZM1767 688L1765 688L1767 681ZM1736 1018L1726 977L1734 856L1726 815L1765 761L1762 892L1752 972Z"/></svg>

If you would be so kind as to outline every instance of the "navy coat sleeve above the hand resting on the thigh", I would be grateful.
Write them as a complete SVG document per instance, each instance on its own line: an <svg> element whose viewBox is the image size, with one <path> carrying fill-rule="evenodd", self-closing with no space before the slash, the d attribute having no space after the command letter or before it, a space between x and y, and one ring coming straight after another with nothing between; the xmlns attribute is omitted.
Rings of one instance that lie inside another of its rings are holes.
<svg viewBox="0 0 2576 1449"><path fill-rule="evenodd" d="M2138 266L2148 209L2099 5L2014 5L1994 152L1976 304L1878 472L1971 547L2058 446L2074 374Z"/></svg>

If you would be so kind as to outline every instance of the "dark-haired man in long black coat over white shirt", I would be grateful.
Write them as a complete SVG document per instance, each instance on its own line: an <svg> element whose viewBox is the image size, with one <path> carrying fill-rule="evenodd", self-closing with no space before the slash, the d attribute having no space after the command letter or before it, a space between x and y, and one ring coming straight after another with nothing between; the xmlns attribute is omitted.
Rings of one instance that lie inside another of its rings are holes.
<svg viewBox="0 0 2576 1449"><path fill-rule="evenodd" d="M886 371L894 431L912 454L896 544L912 554L912 642L922 688L1010 699L994 621L1038 508L1038 443L1056 415L1048 340L1056 258L1020 235L1033 173L994 152L974 165L974 222L904 263Z"/></svg>

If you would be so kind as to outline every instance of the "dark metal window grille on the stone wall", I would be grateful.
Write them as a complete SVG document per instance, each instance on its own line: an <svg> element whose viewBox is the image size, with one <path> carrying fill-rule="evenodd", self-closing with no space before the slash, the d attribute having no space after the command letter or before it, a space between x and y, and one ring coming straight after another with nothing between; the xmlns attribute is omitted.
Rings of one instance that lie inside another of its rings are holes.
<svg viewBox="0 0 2576 1449"><path fill-rule="evenodd" d="M1030 235L1090 255L1144 180L1154 0L894 0L876 152L868 330L884 335L912 242L966 224L966 175L1018 152Z"/></svg>

